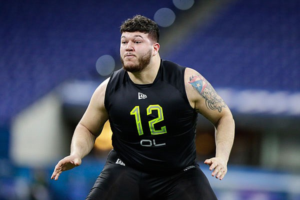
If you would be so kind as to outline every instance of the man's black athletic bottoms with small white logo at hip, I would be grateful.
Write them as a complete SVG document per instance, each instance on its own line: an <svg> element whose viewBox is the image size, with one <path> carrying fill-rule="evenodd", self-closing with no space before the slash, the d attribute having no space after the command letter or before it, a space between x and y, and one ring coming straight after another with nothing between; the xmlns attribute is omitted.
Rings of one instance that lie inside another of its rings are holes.
<svg viewBox="0 0 300 200"><path fill-rule="evenodd" d="M173 175L154 175L125 166L114 150L90 189L89 200L217 199L198 165Z"/></svg>

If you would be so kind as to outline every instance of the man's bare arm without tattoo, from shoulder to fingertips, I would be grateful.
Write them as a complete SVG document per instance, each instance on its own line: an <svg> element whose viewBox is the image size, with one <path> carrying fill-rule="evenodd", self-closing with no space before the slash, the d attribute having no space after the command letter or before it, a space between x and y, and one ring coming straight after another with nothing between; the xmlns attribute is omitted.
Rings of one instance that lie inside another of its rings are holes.
<svg viewBox="0 0 300 200"><path fill-rule="evenodd" d="M51 179L57 180L62 171L81 164L81 159L93 148L96 137L100 134L108 119L104 107L105 90L108 79L104 80L94 91L90 102L77 124L70 147L70 155L62 158L56 164Z"/></svg>

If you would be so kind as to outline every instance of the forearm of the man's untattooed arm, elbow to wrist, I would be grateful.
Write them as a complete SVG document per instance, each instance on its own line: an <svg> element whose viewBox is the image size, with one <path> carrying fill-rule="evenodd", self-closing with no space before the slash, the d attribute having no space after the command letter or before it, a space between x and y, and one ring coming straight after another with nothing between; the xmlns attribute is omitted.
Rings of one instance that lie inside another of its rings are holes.
<svg viewBox="0 0 300 200"><path fill-rule="evenodd" d="M93 148L95 136L80 122L74 130L70 154L76 154L82 159Z"/></svg>

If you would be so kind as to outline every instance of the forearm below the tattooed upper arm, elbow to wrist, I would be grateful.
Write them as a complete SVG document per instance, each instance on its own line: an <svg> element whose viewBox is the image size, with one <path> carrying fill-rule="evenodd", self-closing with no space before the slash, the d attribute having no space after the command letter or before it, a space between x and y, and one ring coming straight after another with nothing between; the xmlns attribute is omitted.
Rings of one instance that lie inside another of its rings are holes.
<svg viewBox="0 0 300 200"><path fill-rule="evenodd" d="M222 157L226 163L234 139L234 120L231 114L222 116L215 125L215 157Z"/></svg>

